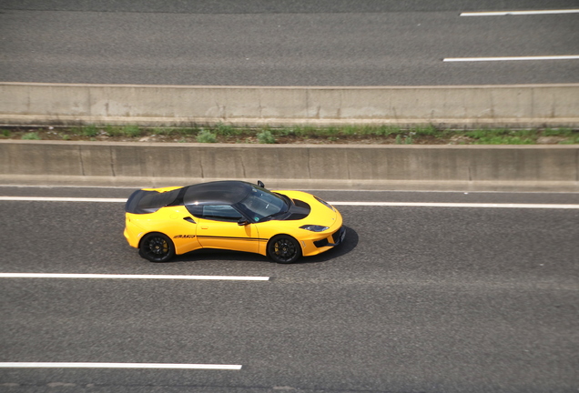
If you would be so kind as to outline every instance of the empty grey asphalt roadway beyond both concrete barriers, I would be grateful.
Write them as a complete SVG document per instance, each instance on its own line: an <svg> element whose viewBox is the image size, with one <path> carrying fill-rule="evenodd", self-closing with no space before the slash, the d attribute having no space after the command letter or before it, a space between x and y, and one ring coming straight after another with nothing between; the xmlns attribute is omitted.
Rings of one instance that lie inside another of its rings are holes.
<svg viewBox="0 0 579 393"><path fill-rule="evenodd" d="M0 81L194 86L579 82L577 0L0 1Z"/></svg>

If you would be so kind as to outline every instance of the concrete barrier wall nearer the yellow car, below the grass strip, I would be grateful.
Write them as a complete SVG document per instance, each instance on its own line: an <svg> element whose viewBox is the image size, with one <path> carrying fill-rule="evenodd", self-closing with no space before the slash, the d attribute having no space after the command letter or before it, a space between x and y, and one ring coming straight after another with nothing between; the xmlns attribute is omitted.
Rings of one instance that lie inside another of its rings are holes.
<svg viewBox="0 0 579 393"><path fill-rule="evenodd" d="M579 191L579 146L299 146L0 141L0 183Z"/></svg>

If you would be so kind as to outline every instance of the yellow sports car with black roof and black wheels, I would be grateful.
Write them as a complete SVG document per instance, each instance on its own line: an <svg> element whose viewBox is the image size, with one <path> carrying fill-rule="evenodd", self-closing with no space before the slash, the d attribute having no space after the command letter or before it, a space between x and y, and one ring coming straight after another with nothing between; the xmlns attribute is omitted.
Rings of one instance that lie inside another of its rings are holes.
<svg viewBox="0 0 579 393"><path fill-rule="evenodd" d="M153 262L198 248L247 251L292 263L339 245L340 212L301 191L269 191L241 181L135 191L125 237Z"/></svg>

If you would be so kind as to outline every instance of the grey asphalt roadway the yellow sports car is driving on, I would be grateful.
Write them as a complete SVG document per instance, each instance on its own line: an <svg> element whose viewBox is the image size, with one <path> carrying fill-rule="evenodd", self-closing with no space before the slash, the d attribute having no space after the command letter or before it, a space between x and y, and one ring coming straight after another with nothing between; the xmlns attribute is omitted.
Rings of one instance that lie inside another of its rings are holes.
<svg viewBox="0 0 579 393"><path fill-rule="evenodd" d="M122 198L130 192L0 187L1 196ZM207 250L153 264L127 246L121 202L1 200L0 273L269 280L0 277L0 365L93 365L2 367L0 390L579 389L579 195L314 194L334 202L455 205L340 206L348 227L345 243L285 266L259 255ZM553 204L575 208L548 208Z"/></svg>

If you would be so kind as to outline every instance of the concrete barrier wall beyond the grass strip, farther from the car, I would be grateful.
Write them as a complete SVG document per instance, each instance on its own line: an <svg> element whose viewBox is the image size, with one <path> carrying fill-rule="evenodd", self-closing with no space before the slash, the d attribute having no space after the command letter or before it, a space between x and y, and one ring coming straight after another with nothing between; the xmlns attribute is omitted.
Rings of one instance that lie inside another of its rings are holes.
<svg viewBox="0 0 579 393"><path fill-rule="evenodd" d="M579 84L256 87L0 83L0 123L579 126Z"/></svg>

